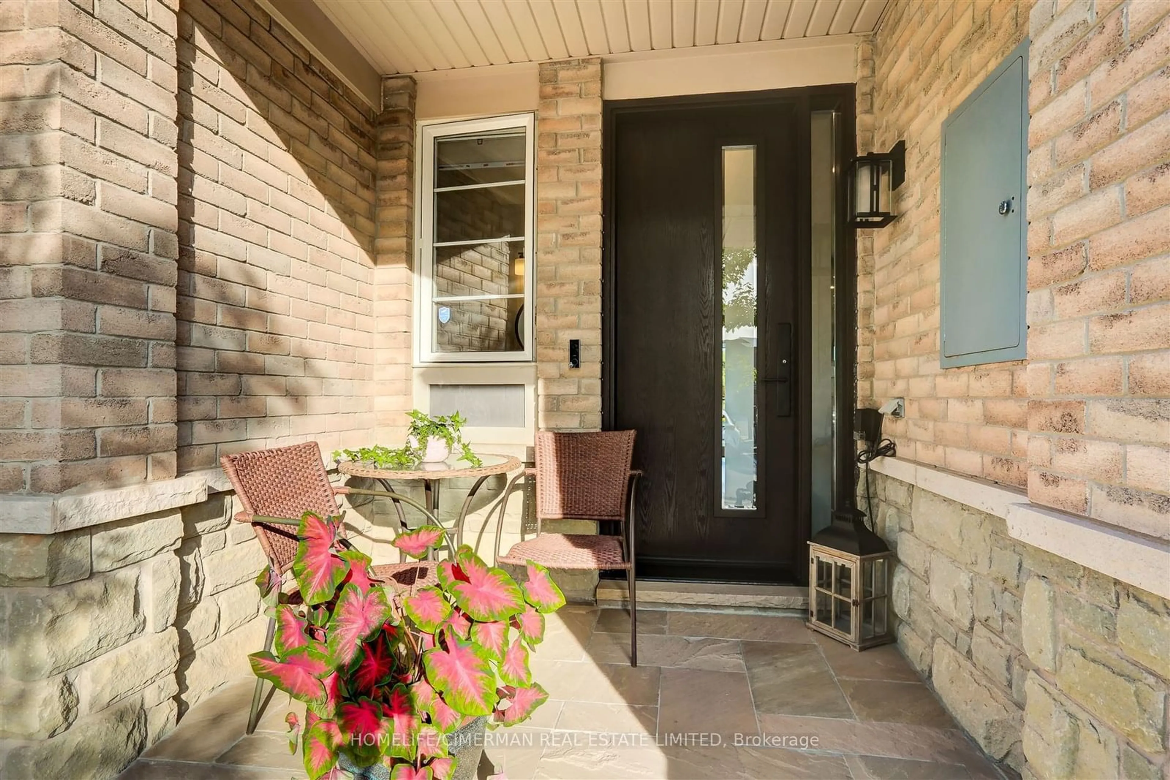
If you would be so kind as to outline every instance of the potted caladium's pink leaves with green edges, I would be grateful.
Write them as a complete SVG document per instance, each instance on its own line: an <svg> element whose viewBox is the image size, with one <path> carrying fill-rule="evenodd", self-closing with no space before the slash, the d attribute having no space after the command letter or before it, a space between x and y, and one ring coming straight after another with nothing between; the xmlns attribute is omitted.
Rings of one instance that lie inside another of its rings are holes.
<svg viewBox="0 0 1170 780"><path fill-rule="evenodd" d="M529 561L517 585L467 545L454 560L421 560L443 541L441 527L422 526L394 546L436 567L439 585L395 592L369 557L342 544L339 517L307 512L297 537L296 589L281 588L271 570L256 578L276 631L271 651L250 661L308 704L289 736L310 780L344 780L345 766L374 764L395 779L448 780L448 734L476 717L522 723L549 697L532 681L529 651L565 598L544 567Z"/></svg>

